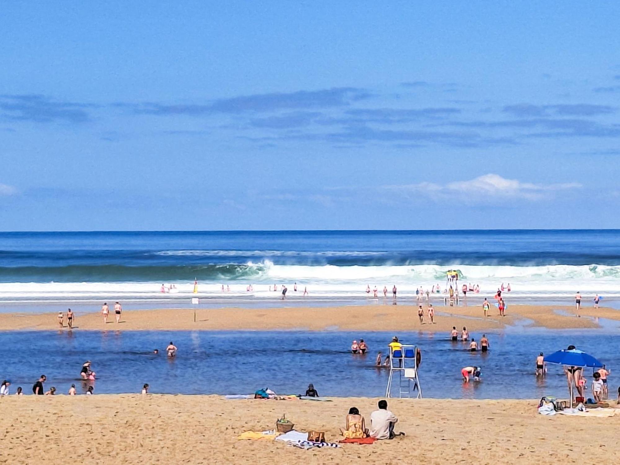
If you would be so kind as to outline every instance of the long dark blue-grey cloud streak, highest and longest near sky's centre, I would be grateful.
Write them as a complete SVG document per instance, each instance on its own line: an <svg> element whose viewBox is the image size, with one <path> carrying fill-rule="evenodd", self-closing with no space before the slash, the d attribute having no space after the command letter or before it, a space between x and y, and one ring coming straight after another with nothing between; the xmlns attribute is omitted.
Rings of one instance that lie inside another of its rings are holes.
<svg viewBox="0 0 620 465"><path fill-rule="evenodd" d="M344 107L370 96L356 87L333 87L320 91L273 92L270 94L241 95L231 99L214 100L208 104L160 104L147 102L131 107L135 113L149 115L203 116L217 113L273 112L278 110L304 110L312 108Z"/></svg>

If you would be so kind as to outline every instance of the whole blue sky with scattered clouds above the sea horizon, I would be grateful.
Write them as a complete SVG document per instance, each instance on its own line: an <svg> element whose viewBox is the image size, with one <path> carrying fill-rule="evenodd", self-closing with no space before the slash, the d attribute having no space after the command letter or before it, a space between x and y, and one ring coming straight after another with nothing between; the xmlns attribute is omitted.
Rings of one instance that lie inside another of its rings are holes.
<svg viewBox="0 0 620 465"><path fill-rule="evenodd" d="M5 2L0 229L620 228L618 2Z"/></svg>

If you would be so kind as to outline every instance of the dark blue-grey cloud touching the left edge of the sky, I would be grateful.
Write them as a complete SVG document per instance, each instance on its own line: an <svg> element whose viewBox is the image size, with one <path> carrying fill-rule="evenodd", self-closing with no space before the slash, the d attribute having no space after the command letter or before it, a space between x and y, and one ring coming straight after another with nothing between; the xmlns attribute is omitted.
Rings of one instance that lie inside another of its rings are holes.
<svg viewBox="0 0 620 465"><path fill-rule="evenodd" d="M91 119L87 109L98 105L63 102L45 95L0 95L0 117L35 123L84 123Z"/></svg>

